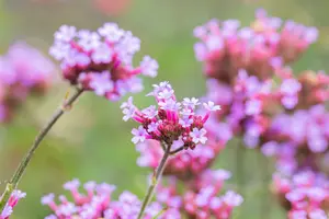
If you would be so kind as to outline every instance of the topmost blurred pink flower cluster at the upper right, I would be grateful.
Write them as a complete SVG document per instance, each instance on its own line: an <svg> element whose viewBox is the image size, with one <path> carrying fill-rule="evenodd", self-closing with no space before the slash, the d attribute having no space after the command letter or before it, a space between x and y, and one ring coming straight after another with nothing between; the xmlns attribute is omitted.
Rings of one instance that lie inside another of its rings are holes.
<svg viewBox="0 0 329 219"><path fill-rule="evenodd" d="M318 36L315 27L271 18L264 10L256 12L250 26L237 20L212 20L194 30L201 42L194 46L207 77L230 84L239 69L266 79L284 64L296 60Z"/></svg>

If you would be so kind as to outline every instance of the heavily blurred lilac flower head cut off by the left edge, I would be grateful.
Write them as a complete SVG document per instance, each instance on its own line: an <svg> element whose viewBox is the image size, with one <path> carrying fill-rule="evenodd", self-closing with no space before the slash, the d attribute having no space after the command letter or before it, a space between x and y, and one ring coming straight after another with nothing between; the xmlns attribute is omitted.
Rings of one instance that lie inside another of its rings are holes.
<svg viewBox="0 0 329 219"><path fill-rule="evenodd" d="M0 123L10 122L29 95L44 94L55 67L25 43L13 44L0 57Z"/></svg>

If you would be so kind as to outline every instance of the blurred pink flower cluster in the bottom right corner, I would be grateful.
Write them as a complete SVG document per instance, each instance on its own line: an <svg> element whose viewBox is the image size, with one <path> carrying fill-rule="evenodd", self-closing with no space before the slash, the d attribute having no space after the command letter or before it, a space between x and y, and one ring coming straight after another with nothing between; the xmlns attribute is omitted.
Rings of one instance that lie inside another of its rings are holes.
<svg viewBox="0 0 329 219"><path fill-rule="evenodd" d="M286 177L276 173L272 187L288 210L288 219L328 218L329 181L324 174L306 170Z"/></svg>

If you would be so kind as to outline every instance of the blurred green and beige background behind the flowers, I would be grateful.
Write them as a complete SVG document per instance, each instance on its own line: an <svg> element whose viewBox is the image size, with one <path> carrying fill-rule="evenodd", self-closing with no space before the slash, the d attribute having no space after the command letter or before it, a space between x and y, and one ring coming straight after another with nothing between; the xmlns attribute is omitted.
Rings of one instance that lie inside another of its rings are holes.
<svg viewBox="0 0 329 219"><path fill-rule="evenodd" d="M274 16L317 26L319 42L294 68L329 69L328 0L0 0L0 49L4 54L11 43L22 39L47 54L54 32L63 24L97 30L104 22L115 21L141 39L136 61L145 54L159 61L158 78L146 80L145 92L135 95L137 105L147 106L152 100L144 94L152 83L162 80L172 83L179 97L203 95L201 64L193 53L194 26L212 18L239 19L249 24L258 8ZM12 124L0 126L0 191L68 88L58 81L47 96L30 99ZM86 94L56 124L20 184L27 197L15 208L13 219L48 215L48 208L39 203L41 196L61 194L61 185L75 177L115 184L116 194L128 189L144 196L149 170L136 165L138 154L131 142L135 124L123 123L118 106L120 103ZM235 174L236 145L237 140L230 141L214 168ZM285 218L274 197L268 194L271 169L271 162L256 151L243 151L243 175L239 177L246 201L237 208L236 218ZM235 186L236 180L234 175L228 186Z"/></svg>

